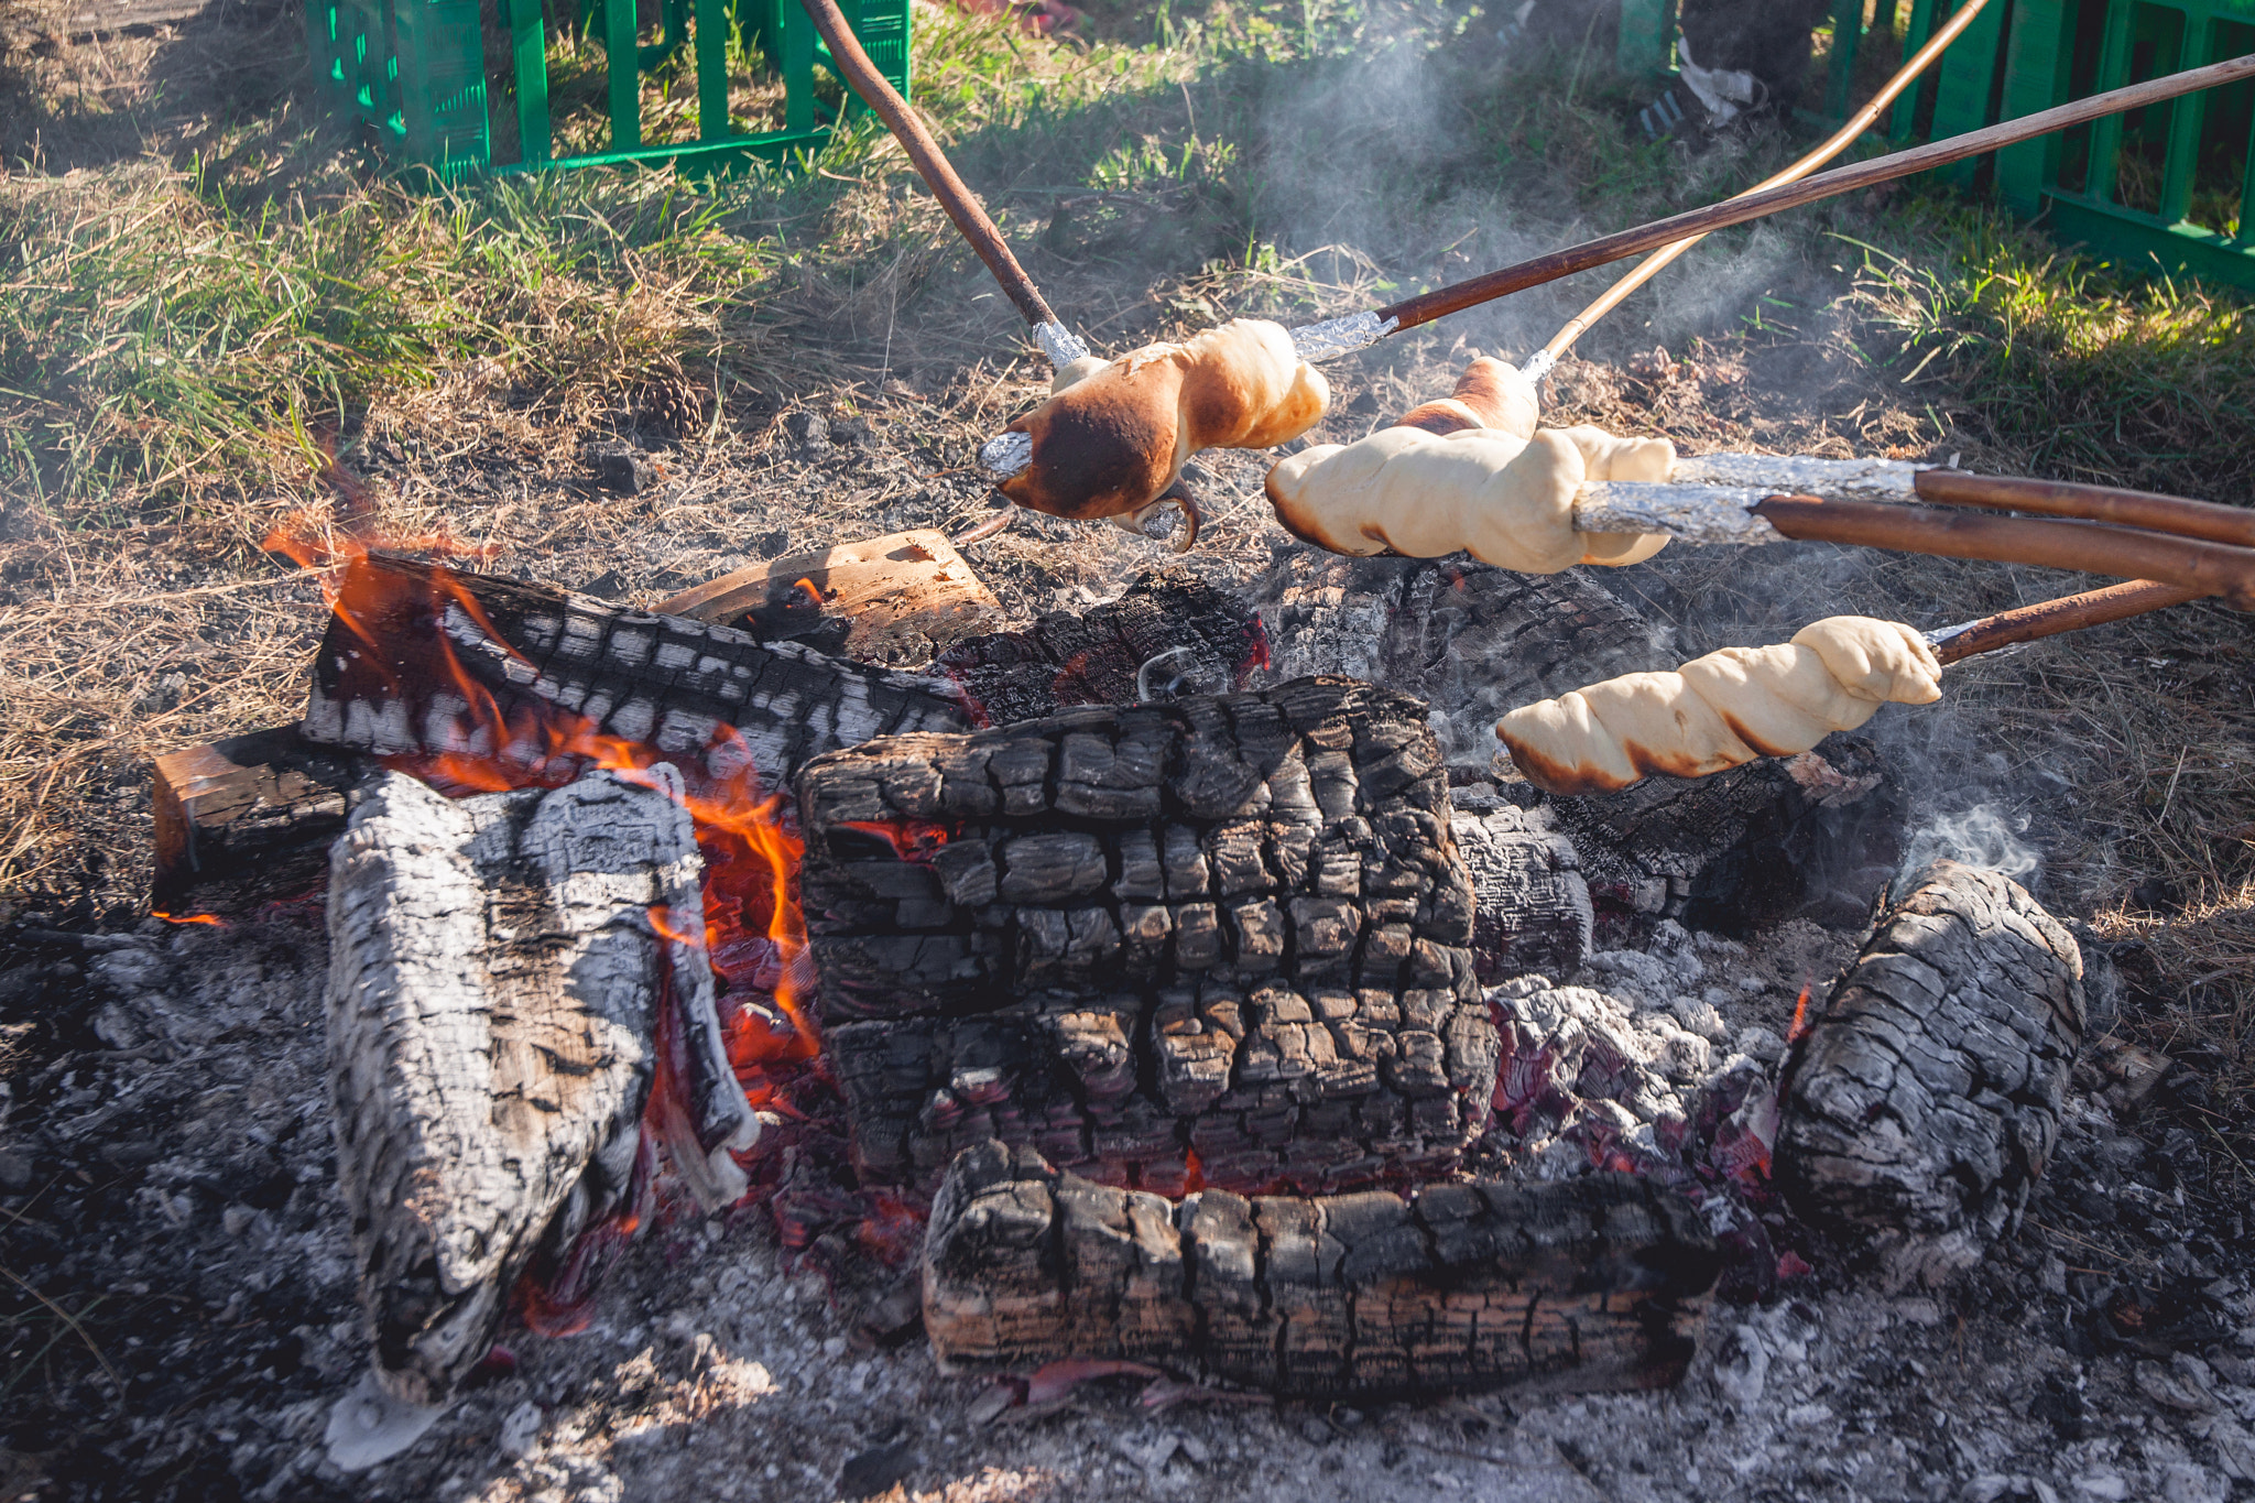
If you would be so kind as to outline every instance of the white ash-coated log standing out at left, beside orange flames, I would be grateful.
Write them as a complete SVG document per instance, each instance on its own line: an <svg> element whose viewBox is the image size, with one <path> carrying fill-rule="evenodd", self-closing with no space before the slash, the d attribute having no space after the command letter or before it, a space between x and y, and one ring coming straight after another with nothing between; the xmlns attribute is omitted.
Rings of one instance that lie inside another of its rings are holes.
<svg viewBox="0 0 2255 1503"><path fill-rule="evenodd" d="M537 1253L622 1197L672 1037L674 1167L744 1192L758 1118L728 1070L699 944L701 861L679 773L446 800L401 773L331 856L327 1055L377 1379L435 1404L492 1345ZM647 784L647 786L645 786Z"/></svg>

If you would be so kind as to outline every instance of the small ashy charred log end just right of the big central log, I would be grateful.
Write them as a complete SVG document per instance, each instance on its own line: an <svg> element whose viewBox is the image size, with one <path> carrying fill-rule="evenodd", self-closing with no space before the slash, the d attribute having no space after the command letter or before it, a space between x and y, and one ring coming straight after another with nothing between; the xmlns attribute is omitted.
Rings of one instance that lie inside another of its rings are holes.
<svg viewBox="0 0 2255 1503"><path fill-rule="evenodd" d="M1504 804L1450 822L1473 879L1473 967L1495 985L1513 976L1572 976L1590 955L1597 910L1581 854L1547 809Z"/></svg>

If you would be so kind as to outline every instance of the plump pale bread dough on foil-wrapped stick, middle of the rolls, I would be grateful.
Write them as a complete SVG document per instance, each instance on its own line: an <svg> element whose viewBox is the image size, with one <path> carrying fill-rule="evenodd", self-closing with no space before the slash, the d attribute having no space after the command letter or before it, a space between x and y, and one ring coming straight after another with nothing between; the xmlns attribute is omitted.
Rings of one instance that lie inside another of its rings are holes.
<svg viewBox="0 0 2255 1503"><path fill-rule="evenodd" d="M1666 480L1673 466L1666 439L1601 428L1522 437L1396 426L1358 444L1303 448L1267 473L1267 496L1285 530L1330 552L1436 559L1461 550L1522 575L1556 575L1660 552L1660 534L1574 532L1574 491L1583 480Z"/></svg>

